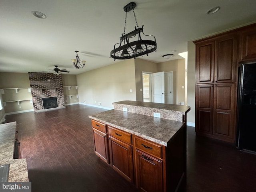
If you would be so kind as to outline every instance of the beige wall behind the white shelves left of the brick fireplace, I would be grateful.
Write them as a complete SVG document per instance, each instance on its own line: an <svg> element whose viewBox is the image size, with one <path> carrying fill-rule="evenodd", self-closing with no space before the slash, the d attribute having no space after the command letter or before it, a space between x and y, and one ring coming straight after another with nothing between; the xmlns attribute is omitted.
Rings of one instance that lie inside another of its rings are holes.
<svg viewBox="0 0 256 192"><path fill-rule="evenodd" d="M30 88L28 73L0 73L0 87L1 88ZM4 108L5 113L20 112L24 110L33 110L33 104L30 103L32 99L31 92L28 89L19 89L16 93L15 89L4 90L2 94L2 101L21 101L20 105L17 102L6 102Z"/></svg>

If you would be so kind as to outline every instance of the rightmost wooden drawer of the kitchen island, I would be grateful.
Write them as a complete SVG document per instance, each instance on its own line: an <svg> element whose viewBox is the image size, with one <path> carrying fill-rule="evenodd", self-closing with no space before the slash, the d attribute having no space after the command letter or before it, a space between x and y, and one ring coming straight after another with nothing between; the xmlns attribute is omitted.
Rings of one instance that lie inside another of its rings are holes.
<svg viewBox="0 0 256 192"><path fill-rule="evenodd" d="M162 158L162 146L135 136L135 147L156 157Z"/></svg>

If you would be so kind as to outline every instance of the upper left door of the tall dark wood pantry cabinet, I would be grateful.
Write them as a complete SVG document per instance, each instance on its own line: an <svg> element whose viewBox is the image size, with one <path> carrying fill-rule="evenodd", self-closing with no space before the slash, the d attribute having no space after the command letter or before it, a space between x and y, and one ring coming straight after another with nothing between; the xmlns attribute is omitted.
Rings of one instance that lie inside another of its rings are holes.
<svg viewBox="0 0 256 192"><path fill-rule="evenodd" d="M214 47L215 42L196 44L196 82L214 82Z"/></svg>

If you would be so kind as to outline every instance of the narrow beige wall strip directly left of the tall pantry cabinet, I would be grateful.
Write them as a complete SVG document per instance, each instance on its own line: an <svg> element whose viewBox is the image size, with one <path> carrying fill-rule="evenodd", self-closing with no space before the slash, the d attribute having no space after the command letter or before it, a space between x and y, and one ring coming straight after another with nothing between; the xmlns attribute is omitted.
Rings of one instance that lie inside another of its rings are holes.
<svg viewBox="0 0 256 192"><path fill-rule="evenodd" d="M196 46L192 41L188 42L188 106L190 112L187 121L195 123L195 85L196 85Z"/></svg>

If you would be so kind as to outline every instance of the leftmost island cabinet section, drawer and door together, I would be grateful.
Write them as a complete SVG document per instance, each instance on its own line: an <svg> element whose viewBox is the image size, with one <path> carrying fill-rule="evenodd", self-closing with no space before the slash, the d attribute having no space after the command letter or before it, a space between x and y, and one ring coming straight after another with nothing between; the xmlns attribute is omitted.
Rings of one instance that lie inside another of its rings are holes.
<svg viewBox="0 0 256 192"><path fill-rule="evenodd" d="M94 140L94 151L104 162L109 164L108 136L106 125L92 120L92 131Z"/></svg>

